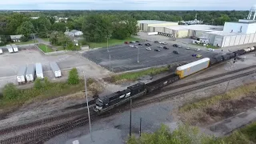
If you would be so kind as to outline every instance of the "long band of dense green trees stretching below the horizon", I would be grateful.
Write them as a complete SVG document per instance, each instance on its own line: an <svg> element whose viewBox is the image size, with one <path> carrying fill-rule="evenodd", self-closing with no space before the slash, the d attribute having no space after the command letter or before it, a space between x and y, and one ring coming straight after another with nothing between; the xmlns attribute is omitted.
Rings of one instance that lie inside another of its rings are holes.
<svg viewBox="0 0 256 144"><path fill-rule="evenodd" d="M124 39L136 34L138 20L162 20L180 22L198 20L204 24L223 25L224 22L246 18L248 11L126 11L126 10L60 10L35 13L0 13L1 45L10 41L5 35L23 34L27 41L30 34L49 38L54 31L82 30L87 42L106 42L106 38ZM30 17L36 17L32 19ZM66 22L55 22L54 16L68 18Z"/></svg>

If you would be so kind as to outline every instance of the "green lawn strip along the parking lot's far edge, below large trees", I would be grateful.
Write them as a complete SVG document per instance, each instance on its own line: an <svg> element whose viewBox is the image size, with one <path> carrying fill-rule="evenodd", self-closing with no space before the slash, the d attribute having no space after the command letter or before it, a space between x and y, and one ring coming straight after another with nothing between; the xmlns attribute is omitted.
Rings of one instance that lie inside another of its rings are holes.
<svg viewBox="0 0 256 144"><path fill-rule="evenodd" d="M138 38L126 38L123 40L110 38L109 46L121 45L126 41L130 42L130 41L139 41L139 40L140 39ZM106 42L88 42L88 45L90 46L90 48L106 47Z"/></svg>

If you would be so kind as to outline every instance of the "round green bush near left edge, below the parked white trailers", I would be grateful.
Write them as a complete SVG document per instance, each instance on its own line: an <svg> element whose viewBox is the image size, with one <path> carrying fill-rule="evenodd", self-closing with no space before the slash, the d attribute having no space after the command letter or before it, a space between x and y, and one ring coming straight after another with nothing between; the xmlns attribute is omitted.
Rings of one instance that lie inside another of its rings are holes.
<svg viewBox="0 0 256 144"><path fill-rule="evenodd" d="M4 86L2 90L2 95L3 98L6 99L14 99L18 97L19 91L18 89L14 86L14 83L8 83L6 86Z"/></svg>

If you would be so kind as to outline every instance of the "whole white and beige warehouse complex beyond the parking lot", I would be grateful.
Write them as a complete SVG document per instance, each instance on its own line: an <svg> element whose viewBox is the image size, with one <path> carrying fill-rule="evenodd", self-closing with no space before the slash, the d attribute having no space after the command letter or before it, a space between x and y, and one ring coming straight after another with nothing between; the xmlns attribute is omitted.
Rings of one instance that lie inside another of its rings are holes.
<svg viewBox="0 0 256 144"><path fill-rule="evenodd" d="M171 38L198 38L212 46L239 46L256 42L256 6L252 6L246 19L225 22L224 26L178 25L175 22L138 21L140 30ZM152 33L154 32L154 33ZM191 41L192 42L192 41Z"/></svg>

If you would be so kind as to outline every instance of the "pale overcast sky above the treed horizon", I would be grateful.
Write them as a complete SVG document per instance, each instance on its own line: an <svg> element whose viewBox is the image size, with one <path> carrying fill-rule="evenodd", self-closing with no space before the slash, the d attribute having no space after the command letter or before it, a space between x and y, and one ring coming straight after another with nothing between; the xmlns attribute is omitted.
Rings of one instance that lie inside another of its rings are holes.
<svg viewBox="0 0 256 144"><path fill-rule="evenodd" d="M255 0L0 0L0 10L250 10Z"/></svg>

